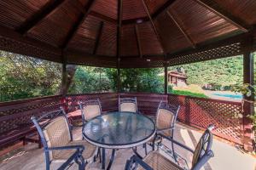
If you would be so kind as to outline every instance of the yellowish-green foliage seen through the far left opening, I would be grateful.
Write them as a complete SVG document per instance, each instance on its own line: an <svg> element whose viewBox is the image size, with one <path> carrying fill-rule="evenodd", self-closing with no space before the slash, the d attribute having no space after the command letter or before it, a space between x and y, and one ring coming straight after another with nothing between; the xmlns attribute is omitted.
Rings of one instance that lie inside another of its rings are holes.
<svg viewBox="0 0 256 170"><path fill-rule="evenodd" d="M58 94L61 65L0 51L0 101Z"/></svg>

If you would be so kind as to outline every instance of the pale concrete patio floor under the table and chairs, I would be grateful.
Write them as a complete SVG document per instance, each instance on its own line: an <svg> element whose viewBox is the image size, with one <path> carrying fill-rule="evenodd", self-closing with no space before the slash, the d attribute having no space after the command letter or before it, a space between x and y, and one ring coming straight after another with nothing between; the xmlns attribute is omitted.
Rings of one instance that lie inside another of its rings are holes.
<svg viewBox="0 0 256 170"><path fill-rule="evenodd" d="M197 141L201 137L201 132L193 130L188 127L184 127L181 124L177 124L175 130L175 139L180 141L183 144L186 144L192 149L195 149ZM77 127L73 130L74 139L81 139L81 128ZM163 144L167 147L170 146L169 142L164 140ZM37 148L37 144L27 144L22 148L22 150L11 156L10 158L2 161L0 163L0 169L2 170L36 170L36 169L45 169L44 163L44 153L42 149ZM170 147L171 148L171 147ZM148 150L150 147L148 146ZM236 147L225 143L219 139L213 139L212 150L214 152L214 157L207 163L204 169L209 170L255 170L256 169L256 158L250 156L246 153L243 153L241 150L237 150ZM163 152L162 149L160 149ZM178 146L175 146L175 151L179 156L183 157L188 161L190 167L192 154L189 152L180 149ZM138 152L144 156L144 150L142 146L138 147ZM111 150L107 150L107 163L110 157ZM164 152L163 152L164 153ZM166 155L166 153L164 153ZM115 159L113 161L113 170L122 170L125 167L125 162L133 155L131 149L117 150ZM170 159L172 159L170 157ZM52 163L51 169L56 169L61 163L54 162ZM96 162L92 162L86 169L100 169L101 164L99 159ZM73 164L68 169L78 169L76 164Z"/></svg>

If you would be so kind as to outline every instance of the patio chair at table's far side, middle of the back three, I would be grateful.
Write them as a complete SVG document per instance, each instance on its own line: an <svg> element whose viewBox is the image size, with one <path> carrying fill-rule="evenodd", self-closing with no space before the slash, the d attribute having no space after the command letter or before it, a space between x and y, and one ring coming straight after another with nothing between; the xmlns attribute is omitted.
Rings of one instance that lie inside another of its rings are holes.
<svg viewBox="0 0 256 170"><path fill-rule="evenodd" d="M120 98L119 96L119 111L137 113L137 98Z"/></svg>

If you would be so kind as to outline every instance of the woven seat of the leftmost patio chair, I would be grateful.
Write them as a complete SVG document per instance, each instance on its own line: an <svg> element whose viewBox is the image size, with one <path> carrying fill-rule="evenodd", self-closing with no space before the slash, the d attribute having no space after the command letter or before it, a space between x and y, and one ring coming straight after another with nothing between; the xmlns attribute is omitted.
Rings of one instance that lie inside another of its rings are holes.
<svg viewBox="0 0 256 170"><path fill-rule="evenodd" d="M84 145L83 157L85 161L91 161L96 154L96 146L89 144L85 140L71 141L67 145ZM76 150L55 150L55 160L67 160Z"/></svg>

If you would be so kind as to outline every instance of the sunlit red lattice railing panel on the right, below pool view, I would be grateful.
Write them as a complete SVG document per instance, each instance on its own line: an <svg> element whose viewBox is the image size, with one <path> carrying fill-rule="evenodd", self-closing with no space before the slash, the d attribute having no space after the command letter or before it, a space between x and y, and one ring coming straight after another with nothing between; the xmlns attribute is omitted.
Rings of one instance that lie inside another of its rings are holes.
<svg viewBox="0 0 256 170"><path fill-rule="evenodd" d="M186 96L169 95L169 102L181 105L178 115L180 122L191 126L207 128L208 125L215 126L213 133L241 144L241 103L217 99L200 99Z"/></svg>

